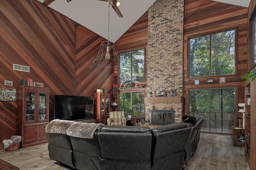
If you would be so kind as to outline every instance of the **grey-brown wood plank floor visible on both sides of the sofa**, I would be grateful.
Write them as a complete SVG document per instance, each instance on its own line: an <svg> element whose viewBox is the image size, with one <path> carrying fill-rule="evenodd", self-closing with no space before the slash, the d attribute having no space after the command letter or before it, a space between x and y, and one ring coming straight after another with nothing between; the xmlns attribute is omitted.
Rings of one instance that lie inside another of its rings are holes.
<svg viewBox="0 0 256 170"><path fill-rule="evenodd" d="M20 170L67 170L54 164L48 156L47 144L25 149L0 149L0 159ZM232 145L231 135L201 133L198 149L185 170L249 170L244 147Z"/></svg>

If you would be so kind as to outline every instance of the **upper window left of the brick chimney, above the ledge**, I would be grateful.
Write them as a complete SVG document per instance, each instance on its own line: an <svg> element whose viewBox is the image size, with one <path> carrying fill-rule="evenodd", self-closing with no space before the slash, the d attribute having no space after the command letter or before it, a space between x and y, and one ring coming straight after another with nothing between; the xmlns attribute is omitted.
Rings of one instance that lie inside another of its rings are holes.
<svg viewBox="0 0 256 170"><path fill-rule="evenodd" d="M144 51L144 49L140 49L136 51L120 53L120 84L145 82Z"/></svg>

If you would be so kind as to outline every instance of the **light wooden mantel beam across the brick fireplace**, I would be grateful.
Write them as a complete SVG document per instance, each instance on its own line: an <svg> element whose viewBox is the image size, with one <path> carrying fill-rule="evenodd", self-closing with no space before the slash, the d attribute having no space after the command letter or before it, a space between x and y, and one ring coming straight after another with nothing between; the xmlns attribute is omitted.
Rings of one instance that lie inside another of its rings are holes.
<svg viewBox="0 0 256 170"><path fill-rule="evenodd" d="M169 97L149 97L144 98L144 103L183 103L182 96L169 96Z"/></svg>

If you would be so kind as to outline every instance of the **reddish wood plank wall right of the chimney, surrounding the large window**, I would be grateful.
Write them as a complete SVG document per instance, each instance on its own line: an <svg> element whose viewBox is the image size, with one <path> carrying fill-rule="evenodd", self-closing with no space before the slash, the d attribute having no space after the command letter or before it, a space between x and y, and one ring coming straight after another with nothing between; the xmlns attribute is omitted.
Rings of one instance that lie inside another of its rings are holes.
<svg viewBox="0 0 256 170"><path fill-rule="evenodd" d="M200 85L194 85L194 78L188 77L188 38L228 29L238 31L236 74L226 76L226 83L220 84L220 76L212 76L200 78ZM248 8L211 0L185 0L183 74L186 101L188 101L189 89L237 87L236 110L238 103L244 103L244 83L241 77L247 72L247 31ZM214 84L206 84L207 78L214 78ZM188 102L186 102L185 114L188 114Z"/></svg>

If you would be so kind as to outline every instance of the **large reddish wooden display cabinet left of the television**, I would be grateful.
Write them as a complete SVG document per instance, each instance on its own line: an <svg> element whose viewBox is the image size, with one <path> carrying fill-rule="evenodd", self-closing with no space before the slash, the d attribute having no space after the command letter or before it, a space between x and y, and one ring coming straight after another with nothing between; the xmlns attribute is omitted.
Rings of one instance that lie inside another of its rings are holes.
<svg viewBox="0 0 256 170"><path fill-rule="evenodd" d="M17 99L22 148L47 143L44 124L49 122L49 88L18 86Z"/></svg>

